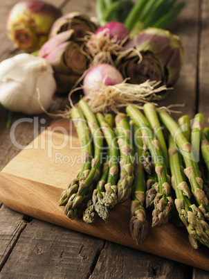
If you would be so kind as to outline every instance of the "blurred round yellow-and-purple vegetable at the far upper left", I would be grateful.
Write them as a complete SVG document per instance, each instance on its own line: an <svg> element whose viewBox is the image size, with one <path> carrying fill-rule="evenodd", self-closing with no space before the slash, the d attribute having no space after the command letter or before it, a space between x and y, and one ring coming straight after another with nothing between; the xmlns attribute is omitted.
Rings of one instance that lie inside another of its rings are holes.
<svg viewBox="0 0 209 279"><path fill-rule="evenodd" d="M10 10L6 31L15 47L33 52L48 40L53 22L61 16L58 8L44 1L21 1Z"/></svg>

